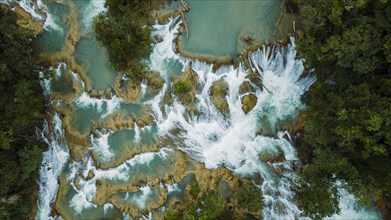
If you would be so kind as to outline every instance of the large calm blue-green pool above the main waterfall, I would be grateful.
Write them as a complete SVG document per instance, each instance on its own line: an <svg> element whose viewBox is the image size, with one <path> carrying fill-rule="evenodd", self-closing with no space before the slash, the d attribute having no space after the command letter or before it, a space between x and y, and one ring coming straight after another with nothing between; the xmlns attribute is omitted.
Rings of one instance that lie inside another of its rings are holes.
<svg viewBox="0 0 391 220"><path fill-rule="evenodd" d="M189 0L189 38L182 34L185 51L214 56L236 56L240 36L256 42L274 40L273 27L280 15L279 0Z"/></svg>

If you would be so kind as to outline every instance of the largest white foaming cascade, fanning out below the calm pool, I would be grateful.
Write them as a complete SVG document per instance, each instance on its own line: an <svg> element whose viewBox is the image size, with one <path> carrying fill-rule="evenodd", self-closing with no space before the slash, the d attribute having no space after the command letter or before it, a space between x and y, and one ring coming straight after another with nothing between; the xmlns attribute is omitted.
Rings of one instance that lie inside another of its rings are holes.
<svg viewBox="0 0 391 220"><path fill-rule="evenodd" d="M269 53L272 54L270 57ZM274 128L279 120L295 117L298 110L304 107L300 96L308 90L315 78L300 78L304 66L302 60L295 59L295 54L294 45L290 45L286 50L266 49L249 55L254 71L258 70L258 76L270 92L257 89L254 93L257 104L248 114L243 112L242 97L239 96L240 85L248 81L245 78L247 72L241 65L235 69L226 66L212 72L212 65L204 62L183 62L192 66L200 79L199 87L202 89L196 91L197 109L201 112L199 116L187 116L185 106L175 99L172 105L165 106L164 112L158 107L158 100L150 103L157 119L159 134L175 140L178 135L173 136L170 131L179 128L182 140L177 143L179 149L205 163L206 168L225 166L241 176L259 173L264 179L259 188L265 197L262 215L266 219L293 219L300 214L290 189L290 182L295 178L291 171L291 161L297 160L295 149L282 138L283 132L278 133L276 138L257 135L260 126L265 126L258 122L259 118L267 118L267 125ZM171 59L170 54L168 59ZM229 106L228 120L216 109L209 97L213 82L220 79L229 88L226 97ZM262 162L258 158L261 152L276 151L282 151L286 161L273 164ZM285 173L274 174L273 168L278 166L285 167Z"/></svg>

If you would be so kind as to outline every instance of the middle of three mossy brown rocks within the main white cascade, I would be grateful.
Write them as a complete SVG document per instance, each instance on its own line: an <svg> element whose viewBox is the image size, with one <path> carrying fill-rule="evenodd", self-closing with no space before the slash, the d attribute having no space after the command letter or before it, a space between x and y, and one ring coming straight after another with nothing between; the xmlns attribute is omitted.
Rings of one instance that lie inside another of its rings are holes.
<svg viewBox="0 0 391 220"><path fill-rule="evenodd" d="M226 96L228 94L228 85L224 80L219 80L213 83L210 88L210 98L215 107L223 114L228 113L228 102Z"/></svg>

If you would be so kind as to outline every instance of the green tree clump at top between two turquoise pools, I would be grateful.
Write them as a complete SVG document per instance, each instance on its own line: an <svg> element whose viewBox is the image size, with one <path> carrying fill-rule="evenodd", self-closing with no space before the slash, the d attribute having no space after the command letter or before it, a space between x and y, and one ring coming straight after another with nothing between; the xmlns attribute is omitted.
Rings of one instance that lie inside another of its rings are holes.
<svg viewBox="0 0 391 220"><path fill-rule="evenodd" d="M140 59L150 50L150 0L107 0L107 11L95 20L97 39L105 46L114 69L128 71L128 77L139 79Z"/></svg>

